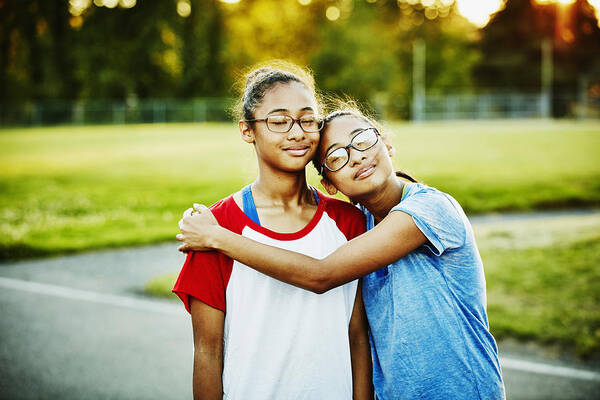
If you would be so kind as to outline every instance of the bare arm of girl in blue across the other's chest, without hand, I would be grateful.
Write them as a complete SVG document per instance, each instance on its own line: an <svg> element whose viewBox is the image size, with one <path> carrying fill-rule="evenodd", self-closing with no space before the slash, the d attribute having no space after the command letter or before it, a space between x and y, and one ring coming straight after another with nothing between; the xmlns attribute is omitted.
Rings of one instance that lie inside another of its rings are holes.
<svg viewBox="0 0 600 400"><path fill-rule="evenodd" d="M412 217L393 212L375 228L316 259L245 238L215 226L211 248L255 270L321 294L391 264L427 241Z"/></svg>

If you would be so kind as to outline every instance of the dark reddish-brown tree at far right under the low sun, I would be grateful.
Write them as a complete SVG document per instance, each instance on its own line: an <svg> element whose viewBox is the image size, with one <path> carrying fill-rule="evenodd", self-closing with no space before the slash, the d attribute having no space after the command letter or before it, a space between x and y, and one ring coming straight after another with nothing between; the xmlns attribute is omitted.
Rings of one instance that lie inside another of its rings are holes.
<svg viewBox="0 0 600 400"><path fill-rule="evenodd" d="M600 80L600 28L585 0L571 5L510 0L482 30L482 58L475 77L485 87L538 91L541 43L552 41L554 111L568 112L560 100L573 96L581 76Z"/></svg>

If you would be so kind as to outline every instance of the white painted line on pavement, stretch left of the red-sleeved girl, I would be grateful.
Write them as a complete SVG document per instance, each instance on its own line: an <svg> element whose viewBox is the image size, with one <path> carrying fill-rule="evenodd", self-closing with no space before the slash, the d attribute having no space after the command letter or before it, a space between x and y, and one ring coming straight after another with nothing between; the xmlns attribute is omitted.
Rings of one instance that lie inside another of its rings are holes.
<svg viewBox="0 0 600 400"><path fill-rule="evenodd" d="M49 296L62 297L71 300L83 300L91 303L109 304L117 307L131 308L134 310L152 311L164 314L187 314L182 305L165 304L161 301L136 299L127 296L118 296L91 292L87 290L73 289L65 286L57 286L48 283L23 281L19 279L0 277L0 287L7 289L22 290L30 293L39 293Z"/></svg>

